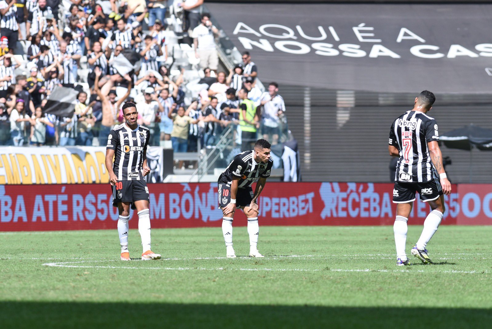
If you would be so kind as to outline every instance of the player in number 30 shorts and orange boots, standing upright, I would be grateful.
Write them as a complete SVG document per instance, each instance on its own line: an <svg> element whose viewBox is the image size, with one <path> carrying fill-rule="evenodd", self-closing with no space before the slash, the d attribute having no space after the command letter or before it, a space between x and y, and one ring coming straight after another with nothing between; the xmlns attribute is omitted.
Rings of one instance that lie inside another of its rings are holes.
<svg viewBox="0 0 492 329"><path fill-rule="evenodd" d="M121 260L129 261L128 220L130 206L138 212L138 232L142 238L142 260L160 259L151 251L151 221L149 189L144 177L150 172L147 165L149 129L137 124L137 107L132 102L123 105L124 123L111 130L106 145L106 169L113 191L113 206L118 207L118 234ZM116 154L116 156L115 156ZM113 162L113 156L115 160Z"/></svg>

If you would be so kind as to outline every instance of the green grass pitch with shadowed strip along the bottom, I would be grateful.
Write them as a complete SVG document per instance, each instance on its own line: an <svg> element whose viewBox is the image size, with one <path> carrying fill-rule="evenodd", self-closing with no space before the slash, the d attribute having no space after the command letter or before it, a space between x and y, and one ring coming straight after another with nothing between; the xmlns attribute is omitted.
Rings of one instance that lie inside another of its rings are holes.
<svg viewBox="0 0 492 329"><path fill-rule="evenodd" d="M485 328L492 227L441 226L433 265L396 266L392 227L261 227L225 258L220 228L152 230L163 260L119 261L115 230L0 233L0 327ZM158 326L158 327L157 327Z"/></svg>

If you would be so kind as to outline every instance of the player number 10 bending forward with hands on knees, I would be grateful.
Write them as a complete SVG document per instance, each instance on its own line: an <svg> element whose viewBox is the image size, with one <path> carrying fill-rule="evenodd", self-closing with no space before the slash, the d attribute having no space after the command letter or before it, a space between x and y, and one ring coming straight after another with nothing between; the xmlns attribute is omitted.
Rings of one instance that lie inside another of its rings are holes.
<svg viewBox="0 0 492 329"><path fill-rule="evenodd" d="M270 177L273 159L271 145L258 139L254 149L238 154L218 177L218 203L222 209L222 234L224 235L227 258L236 258L232 248L232 221L236 208L243 209L247 218L249 234L249 257L264 257L258 251L258 204L257 198ZM258 181L253 194L251 185Z"/></svg>

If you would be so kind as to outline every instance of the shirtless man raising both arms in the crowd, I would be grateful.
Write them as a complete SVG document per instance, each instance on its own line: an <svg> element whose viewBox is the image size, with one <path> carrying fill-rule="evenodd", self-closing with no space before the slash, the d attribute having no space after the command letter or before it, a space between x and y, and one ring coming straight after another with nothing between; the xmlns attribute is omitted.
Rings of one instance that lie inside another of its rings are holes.
<svg viewBox="0 0 492 329"><path fill-rule="evenodd" d="M116 118L118 115L118 109L120 108L121 103L125 100L128 95L130 95L131 91L131 81L128 82L128 90L126 92L126 96L120 98L116 101L116 91L110 90L107 96L104 93L101 93L99 89L99 78L101 76L101 69L99 67L95 68L95 82L94 82L94 90L99 96L99 99L102 103L102 118L100 120L100 131L99 131L99 145L105 145L108 141L108 135L113 129Z"/></svg>

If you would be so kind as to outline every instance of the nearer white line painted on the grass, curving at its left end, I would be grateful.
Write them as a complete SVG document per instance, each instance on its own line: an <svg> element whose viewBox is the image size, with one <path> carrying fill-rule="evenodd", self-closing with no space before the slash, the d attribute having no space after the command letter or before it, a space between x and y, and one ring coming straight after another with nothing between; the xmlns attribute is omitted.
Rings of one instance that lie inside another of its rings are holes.
<svg viewBox="0 0 492 329"><path fill-rule="evenodd" d="M98 262L116 262L116 261L81 261L81 262L61 262L61 263L44 263L44 266L51 266L51 267L69 267L69 268L111 268L111 269L157 269L157 270L171 270L171 271L184 271L184 270L205 270L205 271L254 271L254 272L259 272L259 271L268 271L268 272L319 272L319 271L331 271L331 272L383 272L383 273L401 273L401 272L406 272L406 273L411 273L411 272L417 272L417 273L452 273L452 274L458 274L458 273L489 273L488 271L461 271L461 270L438 270L438 271L425 271L425 270L416 270L416 271L410 271L410 270L389 270L389 269L342 269L342 268L327 268L327 269L319 269L319 268L314 268L314 269L307 269L307 268L223 268L223 267L216 267L216 268L206 268L206 267L137 267L137 266L111 266L111 265L106 265L106 266L101 266L101 265L78 265L80 263L98 263ZM71 264L77 264L77 265L71 265Z"/></svg>

